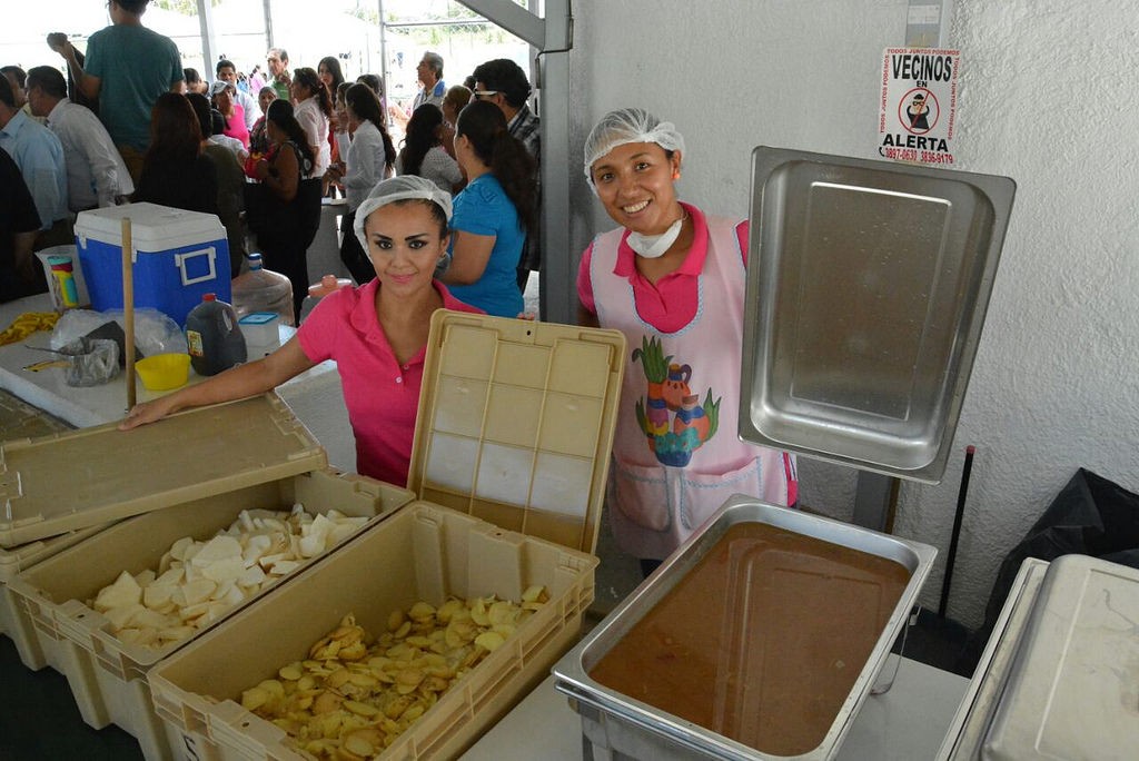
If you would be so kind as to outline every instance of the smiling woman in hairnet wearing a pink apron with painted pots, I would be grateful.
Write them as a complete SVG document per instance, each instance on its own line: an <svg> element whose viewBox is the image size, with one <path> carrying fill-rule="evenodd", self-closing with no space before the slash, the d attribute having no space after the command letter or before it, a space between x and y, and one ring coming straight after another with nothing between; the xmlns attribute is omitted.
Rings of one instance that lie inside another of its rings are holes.
<svg viewBox="0 0 1139 761"><path fill-rule="evenodd" d="M731 494L794 505L794 457L739 441L747 220L677 199L683 138L639 108L606 114L585 177L616 230L585 249L579 321L625 334L609 519L646 574Z"/></svg>

